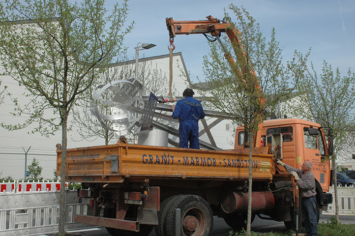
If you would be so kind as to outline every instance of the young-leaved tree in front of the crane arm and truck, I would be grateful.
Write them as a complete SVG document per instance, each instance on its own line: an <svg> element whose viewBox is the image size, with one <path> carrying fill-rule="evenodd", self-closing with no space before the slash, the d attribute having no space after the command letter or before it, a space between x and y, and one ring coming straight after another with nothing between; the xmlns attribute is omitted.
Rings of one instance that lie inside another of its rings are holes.
<svg viewBox="0 0 355 236"><path fill-rule="evenodd" d="M222 35L222 47L216 42L210 43L210 53L204 57L204 73L209 89L200 92L214 98L207 103L211 109L228 114L239 125L244 124L248 134L245 139L249 146L249 162L252 163L253 138L259 129L258 125L269 113L275 111L278 101L290 95L298 80L303 78L308 54L303 57L295 51L293 59L285 66L274 29L270 41L266 42L259 24L243 7L230 4L225 11L225 19L231 19L228 10L237 17L236 23L229 23L230 29L237 34L237 40L231 42L226 35ZM246 231L250 235L251 165L248 183Z"/></svg>

